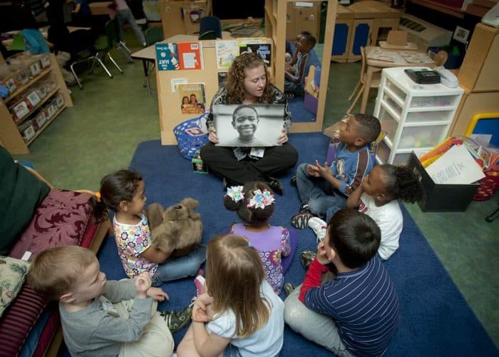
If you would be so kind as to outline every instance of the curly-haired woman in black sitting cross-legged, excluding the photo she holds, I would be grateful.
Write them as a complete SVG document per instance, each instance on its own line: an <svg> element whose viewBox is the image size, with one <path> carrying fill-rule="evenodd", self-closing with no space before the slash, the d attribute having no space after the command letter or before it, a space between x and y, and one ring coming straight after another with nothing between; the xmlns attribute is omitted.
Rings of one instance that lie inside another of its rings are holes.
<svg viewBox="0 0 499 357"><path fill-rule="evenodd" d="M251 147L215 146L218 138L212 109L217 104L284 104L284 125L278 140L282 146L260 149L262 154ZM275 193L282 194L282 184L274 176L284 174L298 160L297 150L287 142L290 126L286 97L270 82L264 61L254 53L241 54L232 63L225 86L212 99L207 118L210 142L201 148L201 159L210 171L224 178L224 186L266 181Z"/></svg>

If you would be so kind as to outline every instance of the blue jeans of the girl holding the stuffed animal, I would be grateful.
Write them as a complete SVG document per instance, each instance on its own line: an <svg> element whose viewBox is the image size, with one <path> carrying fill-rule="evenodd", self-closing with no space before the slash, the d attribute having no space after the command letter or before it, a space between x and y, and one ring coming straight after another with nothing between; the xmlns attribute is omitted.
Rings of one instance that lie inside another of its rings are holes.
<svg viewBox="0 0 499 357"><path fill-rule="evenodd" d="M161 286L167 281L173 281L187 276L195 276L202 263L206 260L206 247L197 246L187 256L170 258L166 263L160 264L158 270L151 278L153 286Z"/></svg>

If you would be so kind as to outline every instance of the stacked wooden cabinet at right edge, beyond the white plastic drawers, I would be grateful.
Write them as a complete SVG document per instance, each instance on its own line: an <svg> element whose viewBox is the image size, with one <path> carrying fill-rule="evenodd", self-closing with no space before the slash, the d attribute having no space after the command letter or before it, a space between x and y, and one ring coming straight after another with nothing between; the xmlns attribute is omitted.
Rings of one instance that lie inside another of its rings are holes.
<svg viewBox="0 0 499 357"><path fill-rule="evenodd" d="M499 29L477 24L458 73L465 95L451 127L464 135L476 114L499 111Z"/></svg>

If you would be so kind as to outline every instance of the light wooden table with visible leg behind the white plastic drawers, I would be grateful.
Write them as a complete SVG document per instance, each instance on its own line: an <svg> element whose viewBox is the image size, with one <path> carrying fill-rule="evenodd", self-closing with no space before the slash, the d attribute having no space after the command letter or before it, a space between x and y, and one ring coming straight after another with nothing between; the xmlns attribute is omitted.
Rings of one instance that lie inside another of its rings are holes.
<svg viewBox="0 0 499 357"><path fill-rule="evenodd" d="M428 66L433 68L436 66L433 59L421 51L381 49L379 46L367 46L365 51L367 69L366 83L364 85L364 93L362 94L361 114L366 113L367 99L369 97L369 89L374 72L381 71L382 69L389 67Z"/></svg>

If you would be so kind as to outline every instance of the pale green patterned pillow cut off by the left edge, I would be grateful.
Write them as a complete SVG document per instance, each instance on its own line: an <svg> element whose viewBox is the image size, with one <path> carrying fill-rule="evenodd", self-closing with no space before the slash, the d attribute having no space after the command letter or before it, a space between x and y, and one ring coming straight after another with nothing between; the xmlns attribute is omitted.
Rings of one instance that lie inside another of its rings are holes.
<svg viewBox="0 0 499 357"><path fill-rule="evenodd" d="M21 290L28 266L27 261L0 256L0 316Z"/></svg>

